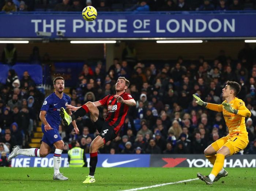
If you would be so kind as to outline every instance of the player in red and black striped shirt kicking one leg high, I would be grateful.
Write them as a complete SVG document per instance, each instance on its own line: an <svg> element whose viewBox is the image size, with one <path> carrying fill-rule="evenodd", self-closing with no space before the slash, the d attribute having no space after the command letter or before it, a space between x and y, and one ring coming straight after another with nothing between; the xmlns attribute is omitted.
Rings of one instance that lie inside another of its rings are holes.
<svg viewBox="0 0 256 191"><path fill-rule="evenodd" d="M87 102L81 107L67 105L67 108L74 112L69 116L65 109L61 109L60 115L65 125L69 125L71 121L90 113L91 120L97 126L100 134L93 140L90 145L90 173L83 183L94 183L94 172L98 161L98 149L106 142L117 137L121 128L123 127L125 117L127 115L129 106L135 106L136 102L132 96L125 93L129 86L129 81L125 77L119 77L116 82L116 94L108 95L102 100L95 102ZM104 120L97 107L107 106L108 113Z"/></svg>

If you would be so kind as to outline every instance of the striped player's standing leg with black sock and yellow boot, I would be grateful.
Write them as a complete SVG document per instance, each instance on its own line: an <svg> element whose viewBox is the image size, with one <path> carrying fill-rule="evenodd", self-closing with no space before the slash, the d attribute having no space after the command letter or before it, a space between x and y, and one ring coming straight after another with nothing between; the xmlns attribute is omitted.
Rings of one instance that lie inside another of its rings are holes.
<svg viewBox="0 0 256 191"><path fill-rule="evenodd" d="M98 149L104 145L104 140L101 136L97 136L90 145L90 172L83 183L94 183L94 173L98 162Z"/></svg>

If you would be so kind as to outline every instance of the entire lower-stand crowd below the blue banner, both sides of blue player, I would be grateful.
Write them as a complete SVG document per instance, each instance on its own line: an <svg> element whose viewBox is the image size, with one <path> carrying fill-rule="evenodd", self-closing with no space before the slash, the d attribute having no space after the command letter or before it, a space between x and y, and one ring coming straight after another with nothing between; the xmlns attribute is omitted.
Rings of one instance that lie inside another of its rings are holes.
<svg viewBox="0 0 256 191"><path fill-rule="evenodd" d="M39 51L35 48L36 52ZM136 50L127 44L123 59L114 59L109 70L101 61L94 67L84 64L78 83L70 88L71 105L81 106L114 94L116 80L124 76L131 84L126 90L136 100L130 108L120 135L106 143L100 153L177 153L202 154L207 145L226 136L228 131L222 113L213 112L196 104L192 94L206 102L221 104L221 93L227 80L241 85L238 97L244 100L252 116L246 118L248 147L244 153L256 153L256 58L255 50L245 44L233 60L221 50L216 59L203 56L196 61L168 63L136 61ZM32 56L33 57L33 56ZM49 73L50 76L50 73ZM35 88L27 72L18 79L10 70L5 84L0 86L0 149L10 152L14 145L28 147L29 137L38 125L38 114L45 95ZM99 108L103 117L107 109ZM76 120L80 130L74 134L72 125L59 126L67 153L72 140L78 140L89 152L92 140L98 135L89 116Z"/></svg>

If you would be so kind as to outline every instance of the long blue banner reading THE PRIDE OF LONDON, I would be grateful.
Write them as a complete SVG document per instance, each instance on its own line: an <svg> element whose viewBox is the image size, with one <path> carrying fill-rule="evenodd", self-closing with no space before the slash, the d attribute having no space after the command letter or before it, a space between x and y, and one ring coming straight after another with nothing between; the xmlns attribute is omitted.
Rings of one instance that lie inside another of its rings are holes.
<svg viewBox="0 0 256 191"><path fill-rule="evenodd" d="M0 38L214 38L255 37L256 13L104 14L85 22L81 14L14 14L0 16ZM22 22L20 22L22 20ZM17 30L18 29L18 30Z"/></svg>

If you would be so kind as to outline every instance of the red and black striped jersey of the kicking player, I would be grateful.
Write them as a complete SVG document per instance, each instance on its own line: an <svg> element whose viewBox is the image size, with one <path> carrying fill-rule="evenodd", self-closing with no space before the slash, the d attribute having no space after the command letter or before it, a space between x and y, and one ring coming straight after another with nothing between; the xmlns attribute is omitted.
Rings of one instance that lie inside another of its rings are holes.
<svg viewBox="0 0 256 191"><path fill-rule="evenodd" d="M124 100L131 100L133 99L131 94L123 93L120 95ZM129 106L117 102L117 99L114 98L114 95L107 95L102 100L99 100L101 105L107 106L108 113L105 118L105 122L108 122L108 125L113 127L116 134L120 131L120 129L124 125L125 117L128 113Z"/></svg>

